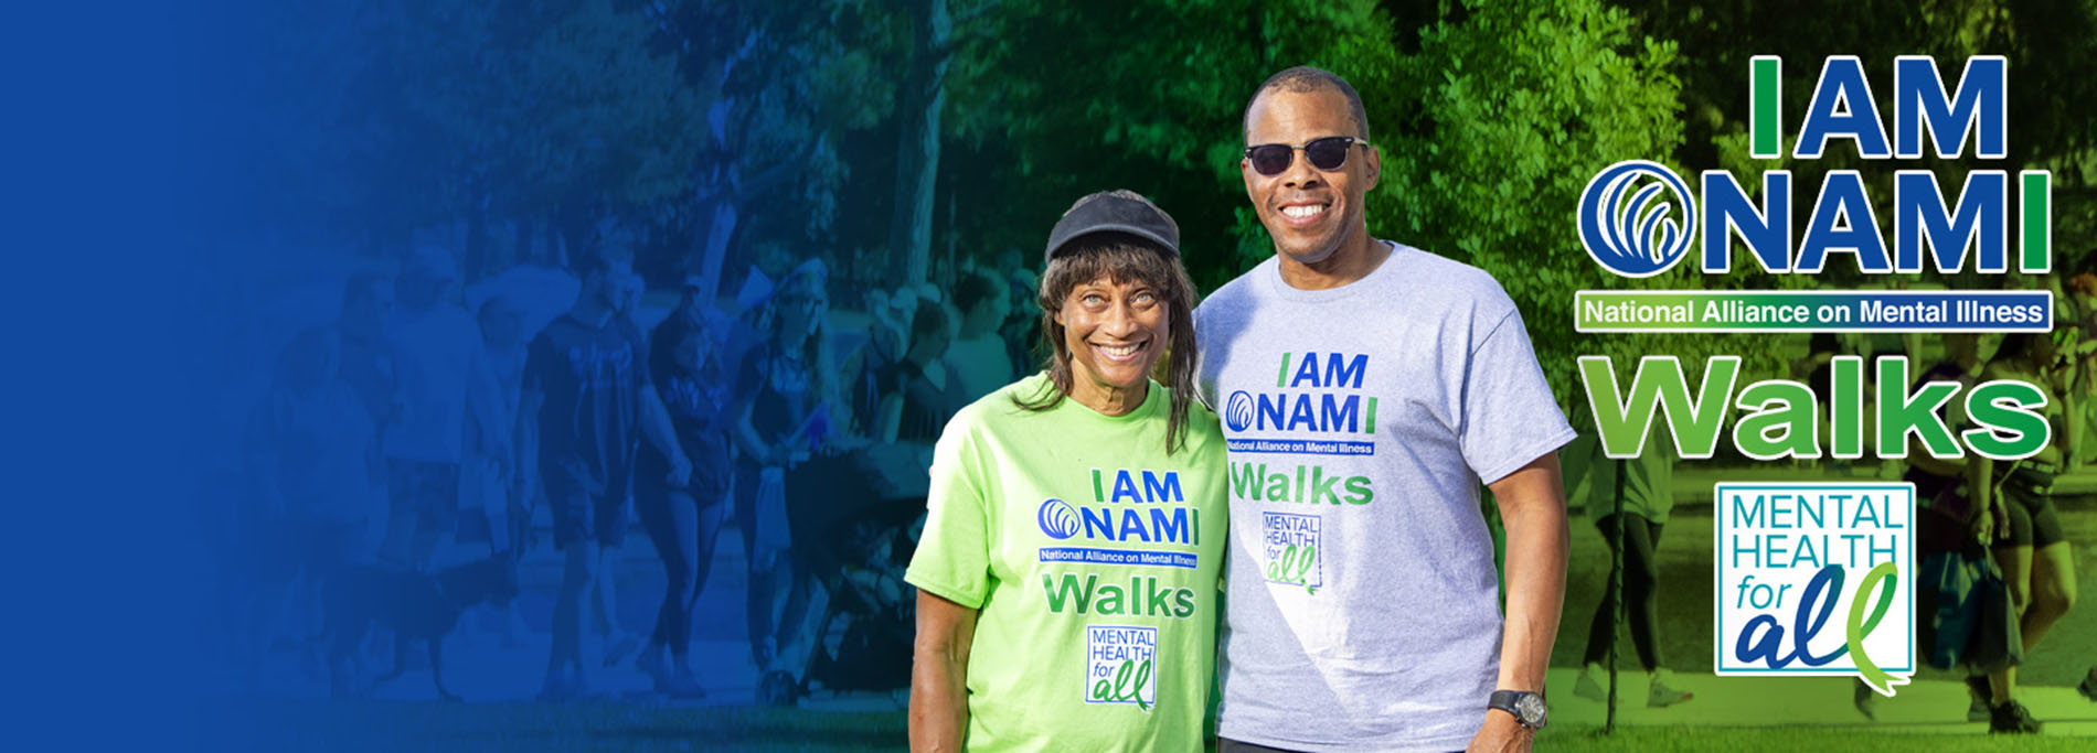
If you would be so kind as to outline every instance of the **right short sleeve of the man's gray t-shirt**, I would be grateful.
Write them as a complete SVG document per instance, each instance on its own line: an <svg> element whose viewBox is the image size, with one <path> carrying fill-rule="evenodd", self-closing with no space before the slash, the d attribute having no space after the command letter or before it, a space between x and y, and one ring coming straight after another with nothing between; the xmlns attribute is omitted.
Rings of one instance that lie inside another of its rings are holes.
<svg viewBox="0 0 2097 753"><path fill-rule="evenodd" d="M1464 363L1464 461L1491 485L1573 440L1512 306Z"/></svg>

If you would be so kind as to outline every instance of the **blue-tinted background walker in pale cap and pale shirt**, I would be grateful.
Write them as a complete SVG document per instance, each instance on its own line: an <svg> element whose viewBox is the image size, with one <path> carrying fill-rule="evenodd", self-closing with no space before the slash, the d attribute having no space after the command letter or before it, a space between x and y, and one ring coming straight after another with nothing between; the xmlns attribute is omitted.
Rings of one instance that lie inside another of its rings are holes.
<svg viewBox="0 0 2097 753"><path fill-rule="evenodd" d="M401 273L388 325L394 392L384 447L392 518L382 558L409 568L426 568L457 529L468 409L487 422L501 413L493 394L472 388L487 348L474 317L457 302L457 281L447 250L417 248Z"/></svg>

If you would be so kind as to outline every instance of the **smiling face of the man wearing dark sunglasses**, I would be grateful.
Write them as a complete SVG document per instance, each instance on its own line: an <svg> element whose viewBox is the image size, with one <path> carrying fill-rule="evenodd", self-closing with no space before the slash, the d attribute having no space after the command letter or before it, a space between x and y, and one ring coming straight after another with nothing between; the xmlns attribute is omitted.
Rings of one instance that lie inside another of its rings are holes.
<svg viewBox="0 0 2097 753"><path fill-rule="evenodd" d="M1323 136L1363 138L1348 113L1346 94L1332 88L1262 92L1246 115L1246 145L1300 147ZM1363 195L1382 174L1382 157L1369 145L1348 147L1340 170L1319 170L1296 151L1288 170L1262 176L1250 159L1239 159L1246 195L1288 260L1321 264L1355 235L1365 235Z"/></svg>

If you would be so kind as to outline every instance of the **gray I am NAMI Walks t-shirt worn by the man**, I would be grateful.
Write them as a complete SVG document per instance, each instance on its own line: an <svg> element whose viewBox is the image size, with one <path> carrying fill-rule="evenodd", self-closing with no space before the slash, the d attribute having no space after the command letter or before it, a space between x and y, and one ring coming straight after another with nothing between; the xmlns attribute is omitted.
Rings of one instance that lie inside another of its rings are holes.
<svg viewBox="0 0 2097 753"><path fill-rule="evenodd" d="M1231 449L1233 740L1453 751L1485 722L1501 615L1480 482L1573 428L1499 283L1390 245L1319 292L1269 258L1195 310Z"/></svg>

